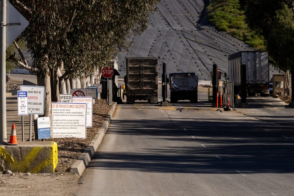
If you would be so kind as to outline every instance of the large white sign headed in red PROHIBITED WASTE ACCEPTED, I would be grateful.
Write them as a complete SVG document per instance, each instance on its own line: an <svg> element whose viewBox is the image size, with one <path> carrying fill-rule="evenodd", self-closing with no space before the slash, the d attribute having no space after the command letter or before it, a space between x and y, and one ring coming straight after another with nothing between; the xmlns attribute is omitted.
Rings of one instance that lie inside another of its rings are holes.
<svg viewBox="0 0 294 196"><path fill-rule="evenodd" d="M86 103L52 103L54 138L86 139Z"/></svg>

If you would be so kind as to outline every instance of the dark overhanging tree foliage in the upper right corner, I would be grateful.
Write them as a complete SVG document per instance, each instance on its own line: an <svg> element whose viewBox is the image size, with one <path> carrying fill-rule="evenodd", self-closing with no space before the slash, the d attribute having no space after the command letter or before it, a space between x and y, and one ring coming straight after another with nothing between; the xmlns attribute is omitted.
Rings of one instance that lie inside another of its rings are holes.
<svg viewBox="0 0 294 196"><path fill-rule="evenodd" d="M294 0L239 1L248 26L265 38L270 58L281 70L289 70L294 63Z"/></svg>

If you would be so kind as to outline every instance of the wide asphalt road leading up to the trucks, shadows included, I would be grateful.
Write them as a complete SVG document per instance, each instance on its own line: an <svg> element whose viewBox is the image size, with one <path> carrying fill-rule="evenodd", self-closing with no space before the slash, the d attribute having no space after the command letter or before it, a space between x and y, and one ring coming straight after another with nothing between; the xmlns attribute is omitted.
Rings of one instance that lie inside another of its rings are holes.
<svg viewBox="0 0 294 196"><path fill-rule="evenodd" d="M293 195L293 127L210 105L119 105L76 195Z"/></svg>

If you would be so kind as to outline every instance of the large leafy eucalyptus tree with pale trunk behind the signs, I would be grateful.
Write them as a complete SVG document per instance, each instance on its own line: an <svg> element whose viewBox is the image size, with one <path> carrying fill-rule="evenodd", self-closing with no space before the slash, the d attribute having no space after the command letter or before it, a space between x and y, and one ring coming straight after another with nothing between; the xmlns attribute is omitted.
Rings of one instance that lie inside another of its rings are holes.
<svg viewBox="0 0 294 196"><path fill-rule="evenodd" d="M29 66L22 55L22 61L14 61L36 74L38 85L45 86L44 116L51 115L51 100L59 99L64 79L90 76L109 66L109 59L131 46L127 38L147 28L149 13L158 2L13 0L30 22L19 39L26 42L33 63Z"/></svg>

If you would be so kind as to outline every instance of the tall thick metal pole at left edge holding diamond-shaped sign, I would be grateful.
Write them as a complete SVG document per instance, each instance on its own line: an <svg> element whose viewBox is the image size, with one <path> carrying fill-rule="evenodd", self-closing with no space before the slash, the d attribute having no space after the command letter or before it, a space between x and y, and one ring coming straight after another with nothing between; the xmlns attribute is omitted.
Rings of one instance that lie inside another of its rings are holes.
<svg viewBox="0 0 294 196"><path fill-rule="evenodd" d="M1 0L1 78L0 78L0 124L1 124L1 134L0 142L6 142L7 140L7 127L6 127L6 0Z"/></svg>

